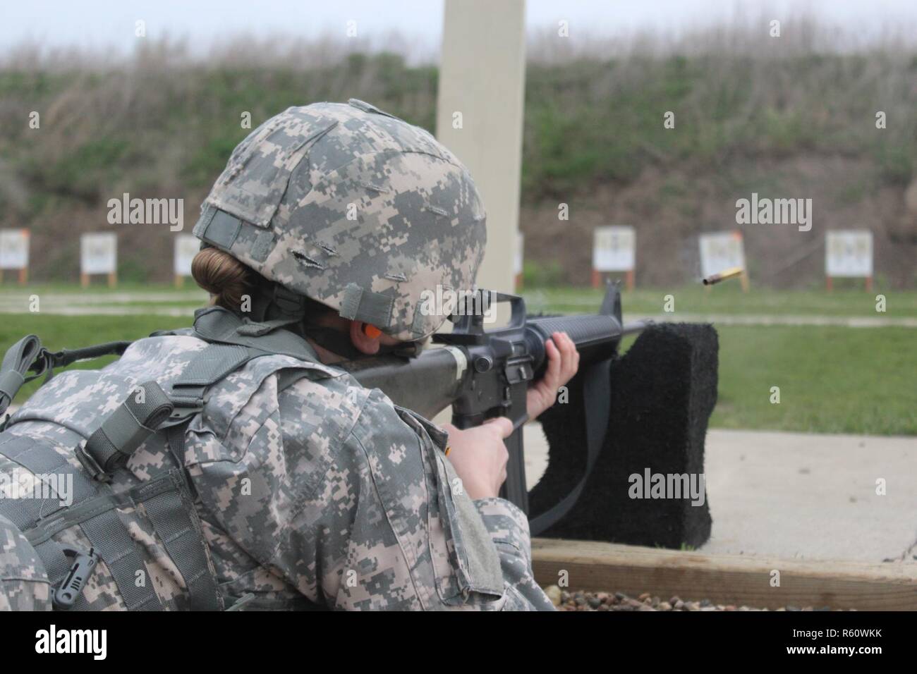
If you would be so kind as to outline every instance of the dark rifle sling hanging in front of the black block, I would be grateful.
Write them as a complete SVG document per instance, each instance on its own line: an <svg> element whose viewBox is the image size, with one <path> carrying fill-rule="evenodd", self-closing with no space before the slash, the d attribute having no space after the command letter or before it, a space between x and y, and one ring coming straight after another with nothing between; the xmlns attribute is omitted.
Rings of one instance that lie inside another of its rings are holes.
<svg viewBox="0 0 917 674"><path fill-rule="evenodd" d="M577 485L557 505L529 520L532 536L537 536L556 524L576 505L586 487L596 459L602 451L608 431L608 401L611 399L611 359L595 363L583 373L582 394L586 416L586 470Z"/></svg>

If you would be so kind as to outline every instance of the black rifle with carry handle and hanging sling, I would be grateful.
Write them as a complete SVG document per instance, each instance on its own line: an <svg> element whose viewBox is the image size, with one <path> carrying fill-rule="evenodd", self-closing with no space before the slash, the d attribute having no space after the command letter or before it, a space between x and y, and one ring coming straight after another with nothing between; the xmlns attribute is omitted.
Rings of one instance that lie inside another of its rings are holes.
<svg viewBox="0 0 917 674"><path fill-rule="evenodd" d="M621 296L609 285L598 314L527 318L525 301L515 295L479 291L467 298L453 330L433 336L442 348L427 348L413 358L392 355L342 363L367 388L381 389L395 404L432 418L452 405L452 424L481 425L494 416L513 422L506 438L509 462L501 496L528 513L522 425L528 420L526 392L547 367L545 341L566 332L580 352L586 412L587 462L580 483L560 503L530 522L533 534L558 521L576 502L602 447L608 426L609 366L624 334L644 327L623 326ZM484 329L491 302L508 302L509 325ZM483 310L481 310L483 309Z"/></svg>

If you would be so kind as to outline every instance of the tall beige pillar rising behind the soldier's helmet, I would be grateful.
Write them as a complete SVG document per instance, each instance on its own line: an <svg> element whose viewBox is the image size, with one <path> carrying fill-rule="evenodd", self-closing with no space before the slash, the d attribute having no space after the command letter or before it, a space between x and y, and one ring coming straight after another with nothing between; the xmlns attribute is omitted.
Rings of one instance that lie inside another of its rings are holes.
<svg viewBox="0 0 917 674"><path fill-rule="evenodd" d="M487 210L487 251L478 285L512 293L522 173L525 0L446 0L444 22L436 138L471 171Z"/></svg>

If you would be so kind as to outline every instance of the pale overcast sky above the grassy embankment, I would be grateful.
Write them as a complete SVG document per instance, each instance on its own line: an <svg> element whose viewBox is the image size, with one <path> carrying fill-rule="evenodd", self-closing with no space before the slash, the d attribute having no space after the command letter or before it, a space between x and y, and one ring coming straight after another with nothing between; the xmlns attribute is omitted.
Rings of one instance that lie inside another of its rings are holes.
<svg viewBox="0 0 917 674"><path fill-rule="evenodd" d="M494 0L499 2L499 0ZM569 21L593 35L626 35L645 29L677 36L690 28L765 14L783 18L801 9L819 22L869 39L883 31L917 27L917 0L528 0L529 29ZM766 10L766 11L765 11ZM88 47L129 52L137 19L148 38L189 39L195 53L215 42L252 34L343 37L350 19L360 37L398 31L414 49L435 54L442 31L442 0L0 0L0 49L23 41L50 48ZM486 20L482 18L481 20Z"/></svg>

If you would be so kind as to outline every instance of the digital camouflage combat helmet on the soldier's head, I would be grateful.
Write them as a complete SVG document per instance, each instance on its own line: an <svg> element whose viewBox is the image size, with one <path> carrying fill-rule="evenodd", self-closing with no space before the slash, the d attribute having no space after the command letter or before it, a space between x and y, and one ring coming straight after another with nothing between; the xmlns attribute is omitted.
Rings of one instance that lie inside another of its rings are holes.
<svg viewBox="0 0 917 674"><path fill-rule="evenodd" d="M425 291L471 289L486 240L481 196L455 155L356 99L290 107L252 131L194 234L401 340L442 325Z"/></svg>

